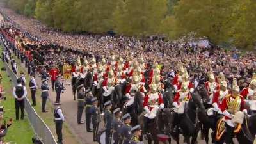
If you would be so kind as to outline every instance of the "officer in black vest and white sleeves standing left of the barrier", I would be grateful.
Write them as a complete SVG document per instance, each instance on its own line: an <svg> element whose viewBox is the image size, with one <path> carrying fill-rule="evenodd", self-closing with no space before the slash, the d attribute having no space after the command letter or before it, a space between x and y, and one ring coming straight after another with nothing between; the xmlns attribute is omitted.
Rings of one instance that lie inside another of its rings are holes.
<svg viewBox="0 0 256 144"><path fill-rule="evenodd" d="M21 111L20 118L24 119L24 108L25 108L25 97L27 95L27 89L25 86L22 86L22 80L17 79L17 86L13 88L13 97L15 97L15 113L16 120L19 120L19 108Z"/></svg>

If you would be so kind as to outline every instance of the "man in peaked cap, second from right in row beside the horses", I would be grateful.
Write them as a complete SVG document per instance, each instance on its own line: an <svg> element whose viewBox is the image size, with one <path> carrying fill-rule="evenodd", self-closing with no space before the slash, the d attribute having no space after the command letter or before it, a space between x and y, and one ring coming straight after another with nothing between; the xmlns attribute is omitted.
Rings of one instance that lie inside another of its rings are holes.
<svg viewBox="0 0 256 144"><path fill-rule="evenodd" d="M129 113L125 114L122 117L123 121L124 121L124 125L122 126L120 133L122 134L122 140L123 140L123 144L128 144L129 141L131 140L131 115Z"/></svg>

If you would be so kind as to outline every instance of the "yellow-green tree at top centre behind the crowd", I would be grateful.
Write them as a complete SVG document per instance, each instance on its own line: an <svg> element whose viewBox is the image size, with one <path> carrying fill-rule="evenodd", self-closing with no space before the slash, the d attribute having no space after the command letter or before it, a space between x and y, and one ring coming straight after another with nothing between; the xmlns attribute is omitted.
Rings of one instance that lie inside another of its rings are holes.
<svg viewBox="0 0 256 144"><path fill-rule="evenodd" d="M120 1L114 13L118 33L129 36L158 34L161 20L167 15L166 0Z"/></svg>

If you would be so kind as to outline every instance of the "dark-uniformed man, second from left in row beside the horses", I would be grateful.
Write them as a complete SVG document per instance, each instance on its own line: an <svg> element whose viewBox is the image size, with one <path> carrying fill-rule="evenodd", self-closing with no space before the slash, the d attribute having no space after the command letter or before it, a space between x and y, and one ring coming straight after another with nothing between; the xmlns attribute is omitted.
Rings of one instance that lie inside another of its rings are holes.
<svg viewBox="0 0 256 144"><path fill-rule="evenodd" d="M86 90L86 92L90 92L90 88L88 90ZM92 107L92 99L93 99L93 95L90 92L85 97L85 120L86 120L86 131L87 132L92 132L92 129L91 129L92 113L90 113L90 108Z"/></svg>

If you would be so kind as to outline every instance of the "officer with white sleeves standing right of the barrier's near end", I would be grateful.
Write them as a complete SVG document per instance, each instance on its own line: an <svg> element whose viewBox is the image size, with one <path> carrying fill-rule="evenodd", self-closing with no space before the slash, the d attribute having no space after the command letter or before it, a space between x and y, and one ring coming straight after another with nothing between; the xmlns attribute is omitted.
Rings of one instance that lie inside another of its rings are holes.
<svg viewBox="0 0 256 144"><path fill-rule="evenodd" d="M56 134L58 137L58 144L62 144L62 125L63 122L65 121L65 118L63 116L62 110L60 106L57 106L54 109L54 122L55 122L55 128L56 128Z"/></svg>

